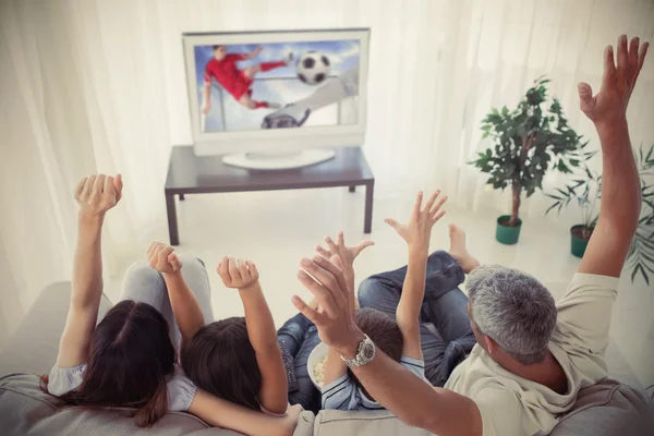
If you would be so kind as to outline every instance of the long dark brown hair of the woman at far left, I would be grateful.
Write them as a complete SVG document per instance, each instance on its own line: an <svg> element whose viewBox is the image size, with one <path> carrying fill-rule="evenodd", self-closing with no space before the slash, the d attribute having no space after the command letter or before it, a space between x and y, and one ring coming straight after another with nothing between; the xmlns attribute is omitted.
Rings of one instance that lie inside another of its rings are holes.
<svg viewBox="0 0 654 436"><path fill-rule="evenodd" d="M150 426L168 411L166 376L174 361L164 316L149 304L121 301L93 332L82 384L59 398L75 405L135 408L136 425ZM43 376L46 392L47 385Z"/></svg>

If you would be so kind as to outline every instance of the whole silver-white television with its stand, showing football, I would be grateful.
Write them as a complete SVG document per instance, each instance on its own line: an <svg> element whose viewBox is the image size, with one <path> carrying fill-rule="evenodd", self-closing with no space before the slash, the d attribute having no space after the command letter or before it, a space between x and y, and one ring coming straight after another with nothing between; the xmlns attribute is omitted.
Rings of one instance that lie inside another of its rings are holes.
<svg viewBox="0 0 654 436"><path fill-rule="evenodd" d="M365 136L370 29L183 34L195 154L276 169Z"/></svg>

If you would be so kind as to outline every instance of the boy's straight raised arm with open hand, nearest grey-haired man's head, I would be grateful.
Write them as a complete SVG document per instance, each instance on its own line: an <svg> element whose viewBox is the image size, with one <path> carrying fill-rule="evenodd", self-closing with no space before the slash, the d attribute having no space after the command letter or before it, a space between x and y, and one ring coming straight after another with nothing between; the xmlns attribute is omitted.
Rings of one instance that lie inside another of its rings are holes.
<svg viewBox="0 0 654 436"><path fill-rule="evenodd" d="M436 191L425 208L421 209L423 193L420 192L411 218L405 225L400 225L393 219L386 220L407 241L409 247L409 265L396 319L404 339L402 354L417 360L423 360L420 346L420 311L425 295L425 275L432 227L445 215L445 210L440 210L440 206L447 201L447 196L443 196L436 202L439 194L440 191Z"/></svg>

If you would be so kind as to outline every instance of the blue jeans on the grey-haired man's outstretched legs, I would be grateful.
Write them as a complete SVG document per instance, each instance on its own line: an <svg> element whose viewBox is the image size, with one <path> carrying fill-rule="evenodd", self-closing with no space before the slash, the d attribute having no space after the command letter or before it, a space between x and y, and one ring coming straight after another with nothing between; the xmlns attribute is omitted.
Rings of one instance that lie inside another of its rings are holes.
<svg viewBox="0 0 654 436"><path fill-rule="evenodd" d="M359 287L359 304L395 318L405 276L404 266L365 279ZM425 377L434 386L443 387L476 343L468 316L468 296L458 288L463 279L461 266L448 253L429 255L420 334ZM427 329L427 323L434 324L439 337Z"/></svg>

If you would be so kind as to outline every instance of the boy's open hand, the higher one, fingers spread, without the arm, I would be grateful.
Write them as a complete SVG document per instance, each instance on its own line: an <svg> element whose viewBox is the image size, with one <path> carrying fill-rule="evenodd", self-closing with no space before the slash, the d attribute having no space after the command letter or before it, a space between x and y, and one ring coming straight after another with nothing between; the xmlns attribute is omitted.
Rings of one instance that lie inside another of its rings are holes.
<svg viewBox="0 0 654 436"><path fill-rule="evenodd" d="M425 208L421 209L423 193L419 192L413 205L413 213L405 225L400 225L395 219L384 220L384 222L392 227L407 241L410 251L428 252L432 227L445 215L445 210L440 210L440 206L447 201L447 196L443 196L436 202L439 195L440 191L436 191L425 205Z"/></svg>

